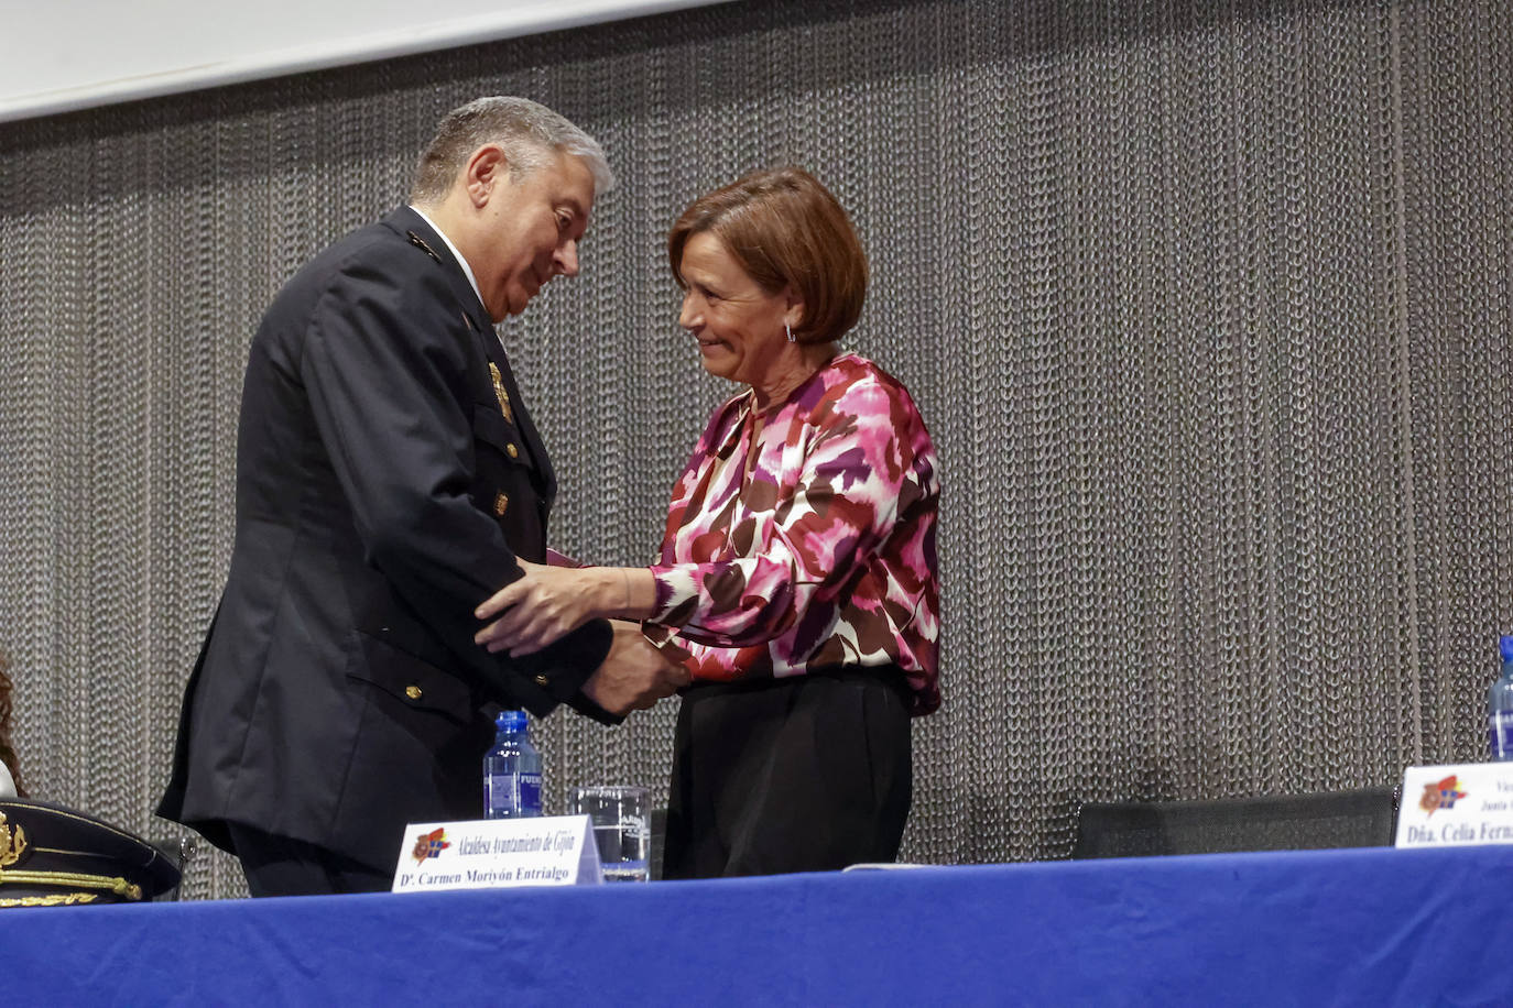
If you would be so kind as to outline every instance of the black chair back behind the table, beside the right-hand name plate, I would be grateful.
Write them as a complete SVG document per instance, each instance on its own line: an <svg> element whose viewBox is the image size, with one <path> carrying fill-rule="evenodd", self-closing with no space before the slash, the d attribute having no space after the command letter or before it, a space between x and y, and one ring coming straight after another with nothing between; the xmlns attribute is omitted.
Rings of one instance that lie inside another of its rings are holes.
<svg viewBox="0 0 1513 1008"><path fill-rule="evenodd" d="M1390 787L1213 801L1089 802L1074 858L1390 846Z"/></svg>

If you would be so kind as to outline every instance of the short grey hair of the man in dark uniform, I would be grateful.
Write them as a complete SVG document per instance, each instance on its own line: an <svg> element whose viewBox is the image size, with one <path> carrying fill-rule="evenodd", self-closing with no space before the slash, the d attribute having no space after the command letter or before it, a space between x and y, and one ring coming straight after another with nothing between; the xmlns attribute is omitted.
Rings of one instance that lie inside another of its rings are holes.
<svg viewBox="0 0 1513 1008"><path fill-rule="evenodd" d="M598 141L543 104L496 95L477 98L442 116L415 169L410 203L440 203L457 172L484 144L498 144L504 150L511 178L542 168L561 151L584 160L593 172L596 196L614 187L614 174Z"/></svg>

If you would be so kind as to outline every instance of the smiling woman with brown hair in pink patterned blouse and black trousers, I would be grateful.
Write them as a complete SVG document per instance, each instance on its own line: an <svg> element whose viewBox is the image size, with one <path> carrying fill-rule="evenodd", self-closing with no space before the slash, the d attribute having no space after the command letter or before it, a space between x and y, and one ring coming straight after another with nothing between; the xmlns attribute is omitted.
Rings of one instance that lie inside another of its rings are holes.
<svg viewBox="0 0 1513 1008"><path fill-rule="evenodd" d="M673 753L669 878L897 855L909 718L940 706L935 449L908 390L837 340L867 260L797 168L696 199L667 240L679 325L747 385L673 487L649 568L520 564L480 606L490 650L595 617L643 620L693 677Z"/></svg>

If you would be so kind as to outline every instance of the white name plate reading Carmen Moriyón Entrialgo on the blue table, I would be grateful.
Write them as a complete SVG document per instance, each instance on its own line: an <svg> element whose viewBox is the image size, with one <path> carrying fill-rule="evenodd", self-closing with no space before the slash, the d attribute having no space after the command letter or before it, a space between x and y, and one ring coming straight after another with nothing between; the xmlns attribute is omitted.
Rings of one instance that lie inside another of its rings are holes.
<svg viewBox="0 0 1513 1008"><path fill-rule="evenodd" d="M393 892L504 886L599 886L589 816L412 822Z"/></svg>

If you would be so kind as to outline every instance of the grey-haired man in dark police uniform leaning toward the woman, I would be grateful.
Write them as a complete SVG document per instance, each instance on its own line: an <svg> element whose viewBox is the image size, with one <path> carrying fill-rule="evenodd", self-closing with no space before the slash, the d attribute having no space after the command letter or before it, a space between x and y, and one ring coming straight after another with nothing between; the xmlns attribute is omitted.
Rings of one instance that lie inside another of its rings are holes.
<svg viewBox="0 0 1513 1008"><path fill-rule="evenodd" d="M259 895L386 890L407 822L483 816L487 704L605 722L684 685L634 624L489 654L472 611L546 558L557 484L493 322L578 272L599 145L520 98L442 121L409 207L253 340L236 544L157 813Z"/></svg>

